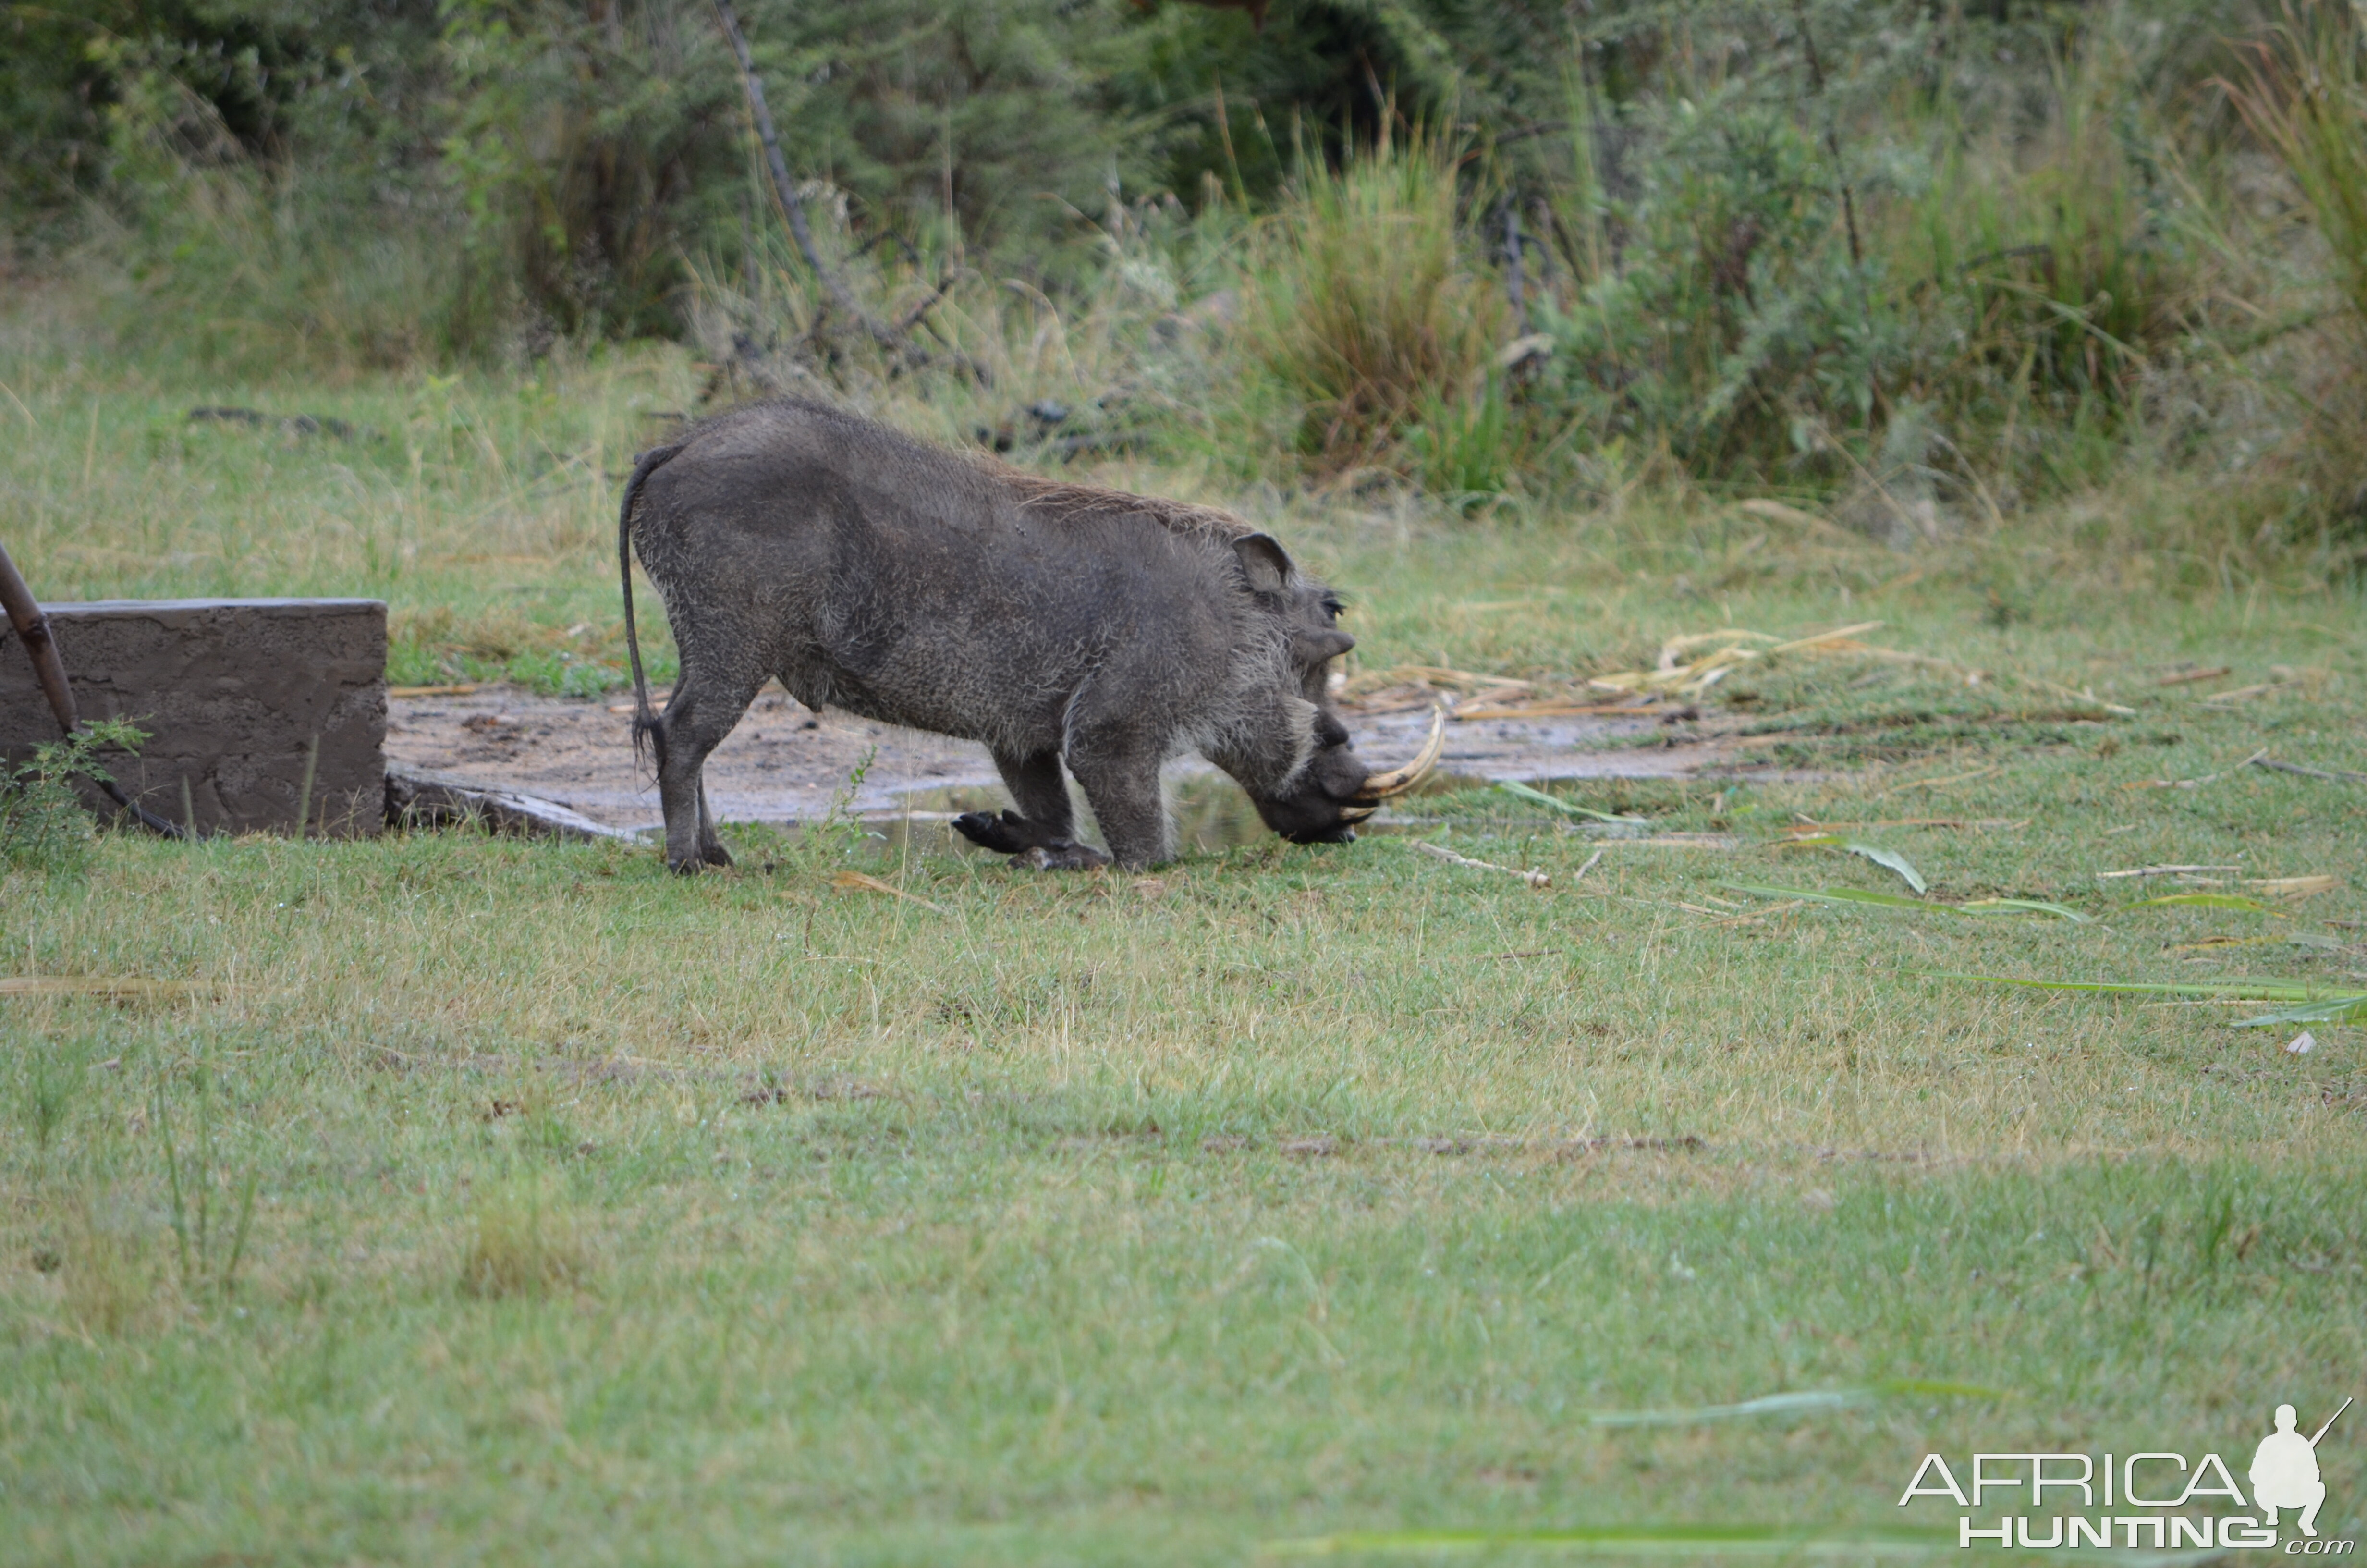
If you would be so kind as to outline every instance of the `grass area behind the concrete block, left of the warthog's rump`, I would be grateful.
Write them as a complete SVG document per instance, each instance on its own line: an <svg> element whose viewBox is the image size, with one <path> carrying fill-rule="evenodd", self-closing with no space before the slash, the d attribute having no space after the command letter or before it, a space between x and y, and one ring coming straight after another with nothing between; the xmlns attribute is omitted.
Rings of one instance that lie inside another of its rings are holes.
<svg viewBox="0 0 2367 1568"><path fill-rule="evenodd" d="M33 310L0 317L0 384L9 550L38 595L369 595L393 611L398 685L509 675L547 692L623 685L615 493L698 391L682 353L606 351L523 379L225 384L125 369L107 339Z"/></svg>

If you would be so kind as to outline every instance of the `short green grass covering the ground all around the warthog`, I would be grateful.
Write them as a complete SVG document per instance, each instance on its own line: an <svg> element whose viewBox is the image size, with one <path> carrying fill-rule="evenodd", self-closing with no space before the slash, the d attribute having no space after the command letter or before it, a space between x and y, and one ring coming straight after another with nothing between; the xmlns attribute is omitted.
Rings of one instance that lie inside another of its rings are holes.
<svg viewBox="0 0 2367 1568"><path fill-rule="evenodd" d="M0 481L43 595L379 592L400 658L613 656L613 478L679 360L211 388L17 332ZM185 985L0 995L0 1561L1711 1556L1948 1528L1894 1506L1927 1450L2242 1473L2270 1405L2367 1367L2362 1030L2289 1054L2234 1028L2258 1004L1943 978L2367 969L2367 791L2239 765L2367 767L2360 602L2156 502L1913 559L1702 500L1255 502L1354 599L1363 670L1875 618L1943 661L1785 656L1669 730L1820 777L1550 786L1735 848L1420 803L1550 891L1392 836L1129 879L760 829L698 881L471 836L9 874L7 976ZM2161 687L2182 661L2232 673ZM2275 689L2204 701L2244 685ZM1785 846L1801 817L1936 902L2092 919L1735 891L1901 895ZM845 855L935 910L836 886ZM2163 862L2244 872L2097 879ZM2327 1445L2327 1535L2360 1452Z"/></svg>

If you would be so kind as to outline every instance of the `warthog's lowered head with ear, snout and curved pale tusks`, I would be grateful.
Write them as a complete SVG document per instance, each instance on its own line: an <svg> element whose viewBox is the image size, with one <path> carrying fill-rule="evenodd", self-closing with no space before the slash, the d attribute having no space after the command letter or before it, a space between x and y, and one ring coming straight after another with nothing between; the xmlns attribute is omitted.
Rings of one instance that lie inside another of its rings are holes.
<svg viewBox="0 0 2367 1568"><path fill-rule="evenodd" d="M1250 801L1266 827L1292 843L1347 843L1356 836L1356 824L1380 810L1382 801L1406 793L1439 765L1439 753L1446 751L1446 715L1432 718L1430 741L1404 767L1389 772L1366 767L1349 746L1347 725L1340 722L1330 694L1330 661L1356 647L1356 640L1340 630L1340 595L1299 576L1283 547L1264 533L1236 540L1233 552L1259 604L1281 618L1299 696L1314 703L1314 751L1307 765L1273 793L1250 786Z"/></svg>

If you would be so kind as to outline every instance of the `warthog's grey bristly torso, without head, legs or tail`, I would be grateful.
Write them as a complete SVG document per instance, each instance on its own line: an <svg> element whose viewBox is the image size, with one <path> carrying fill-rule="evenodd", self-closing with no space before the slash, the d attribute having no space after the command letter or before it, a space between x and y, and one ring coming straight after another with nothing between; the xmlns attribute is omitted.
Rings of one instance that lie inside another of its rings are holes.
<svg viewBox="0 0 2367 1568"><path fill-rule="evenodd" d="M694 429L634 514L686 661L1004 751L1058 748L1089 687L1176 746L1221 725L1247 675L1243 533L805 403Z"/></svg>

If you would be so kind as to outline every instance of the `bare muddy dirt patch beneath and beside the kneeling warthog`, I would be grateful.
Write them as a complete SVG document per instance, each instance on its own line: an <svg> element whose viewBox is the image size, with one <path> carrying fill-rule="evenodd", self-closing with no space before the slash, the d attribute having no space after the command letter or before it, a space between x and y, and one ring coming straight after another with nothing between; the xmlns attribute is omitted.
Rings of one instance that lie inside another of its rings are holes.
<svg viewBox="0 0 2367 1568"><path fill-rule="evenodd" d="M1425 713L1342 711L1356 748L1380 765L1411 756ZM391 763L559 801L594 822L660 827L656 775L632 753L632 703L535 696L483 687L462 696L395 696L386 718ZM1650 718L1534 718L1451 725L1442 775L1465 779L1673 779L1728 756L1726 741L1640 748ZM864 765L869 758L869 765ZM850 791L864 815L1001 805L987 748L942 734L810 713L772 689L708 760L708 801L724 822L812 822ZM1176 782L1207 777L1200 758L1169 763Z"/></svg>

